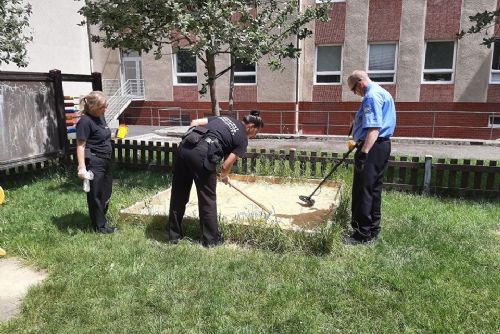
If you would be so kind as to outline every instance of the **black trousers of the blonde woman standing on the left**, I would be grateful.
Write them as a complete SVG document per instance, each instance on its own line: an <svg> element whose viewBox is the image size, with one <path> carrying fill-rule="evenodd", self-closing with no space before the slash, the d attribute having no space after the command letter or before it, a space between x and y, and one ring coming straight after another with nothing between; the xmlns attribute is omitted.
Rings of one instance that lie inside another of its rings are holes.
<svg viewBox="0 0 500 334"><path fill-rule="evenodd" d="M94 173L90 181L90 191L87 193L87 204L92 227L96 230L107 227L106 213L111 199L113 176L111 161L91 155L86 159L87 170Z"/></svg>

